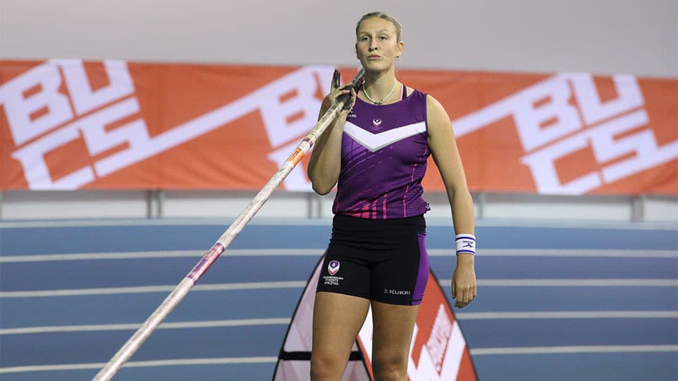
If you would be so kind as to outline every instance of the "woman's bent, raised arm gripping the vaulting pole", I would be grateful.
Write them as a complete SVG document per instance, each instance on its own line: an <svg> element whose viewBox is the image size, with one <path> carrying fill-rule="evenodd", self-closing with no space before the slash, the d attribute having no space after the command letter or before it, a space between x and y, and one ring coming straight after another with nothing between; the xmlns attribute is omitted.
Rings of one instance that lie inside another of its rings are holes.
<svg viewBox="0 0 678 381"><path fill-rule="evenodd" d="M319 119L339 95L350 92L350 105L352 107L355 104L355 90L345 90L345 87L333 89L323 99ZM351 107L340 111L332 124L323 132L323 135L316 140L316 144L311 152L311 161L309 162L307 174L309 179L311 179L313 190L321 195L326 195L332 191L332 188L334 188L339 179L339 171L341 169L341 138Z"/></svg>

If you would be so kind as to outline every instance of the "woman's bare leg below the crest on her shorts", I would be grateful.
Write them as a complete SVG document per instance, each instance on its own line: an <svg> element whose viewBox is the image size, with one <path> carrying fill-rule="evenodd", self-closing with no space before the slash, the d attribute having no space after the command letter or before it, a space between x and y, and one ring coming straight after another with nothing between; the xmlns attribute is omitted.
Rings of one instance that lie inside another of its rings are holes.
<svg viewBox="0 0 678 381"><path fill-rule="evenodd" d="M311 381L339 381L367 317L365 298L317 292L313 308Z"/></svg>

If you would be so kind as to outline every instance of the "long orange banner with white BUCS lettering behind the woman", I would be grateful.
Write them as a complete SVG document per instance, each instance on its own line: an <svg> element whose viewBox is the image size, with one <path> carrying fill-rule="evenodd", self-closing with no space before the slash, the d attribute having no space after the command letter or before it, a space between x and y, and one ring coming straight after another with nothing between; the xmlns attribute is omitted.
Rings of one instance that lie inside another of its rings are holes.
<svg viewBox="0 0 678 381"><path fill-rule="evenodd" d="M0 61L0 190L260 189L333 67ZM352 78L355 68L343 69ZM399 70L450 115L472 191L678 194L678 80ZM285 179L309 191L307 159ZM434 167L428 191L443 191Z"/></svg>

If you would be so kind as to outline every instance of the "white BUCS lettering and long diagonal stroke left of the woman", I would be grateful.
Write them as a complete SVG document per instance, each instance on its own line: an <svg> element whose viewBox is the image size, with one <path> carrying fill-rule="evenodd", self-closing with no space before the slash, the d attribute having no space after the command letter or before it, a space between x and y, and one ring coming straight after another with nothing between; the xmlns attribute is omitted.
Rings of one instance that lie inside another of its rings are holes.
<svg viewBox="0 0 678 381"><path fill-rule="evenodd" d="M321 83L333 68L304 67L179 126L148 133L125 61L103 61L107 85L93 90L83 61L50 60L0 87L0 107L30 189L76 189L143 159L186 143L236 119L259 111L273 150L268 159L285 162L315 124ZM61 88L65 92L61 92ZM113 126L113 128L112 128ZM83 141L90 156L71 173L55 178L45 157L73 141ZM310 190L304 171L284 181L288 190Z"/></svg>

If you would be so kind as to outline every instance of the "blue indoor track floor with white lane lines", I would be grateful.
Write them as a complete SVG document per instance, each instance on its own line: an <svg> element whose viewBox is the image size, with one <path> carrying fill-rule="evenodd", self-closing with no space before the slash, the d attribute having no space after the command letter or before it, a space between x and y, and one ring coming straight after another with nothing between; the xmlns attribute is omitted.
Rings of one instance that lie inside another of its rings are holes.
<svg viewBox="0 0 678 381"><path fill-rule="evenodd" d="M0 379L90 380L229 221L0 223ZM675 224L479 222L480 380L678 379ZM429 221L450 291L449 222ZM257 220L114 380L270 380L329 221Z"/></svg>

